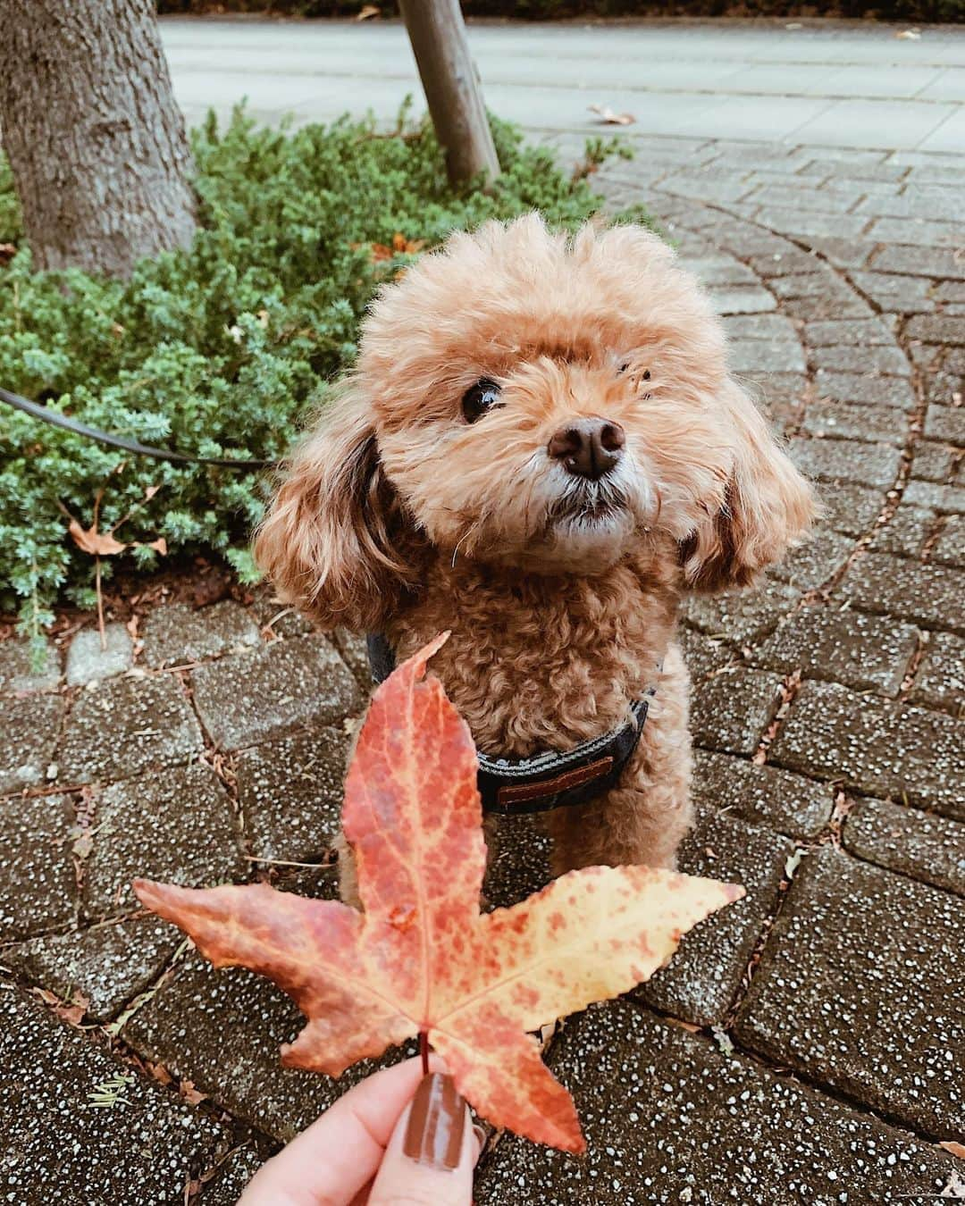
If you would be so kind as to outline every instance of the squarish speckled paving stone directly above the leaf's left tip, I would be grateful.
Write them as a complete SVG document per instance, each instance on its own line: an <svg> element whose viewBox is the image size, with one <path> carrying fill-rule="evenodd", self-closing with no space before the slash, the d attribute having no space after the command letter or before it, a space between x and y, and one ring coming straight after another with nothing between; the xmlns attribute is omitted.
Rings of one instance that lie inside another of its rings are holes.
<svg viewBox="0 0 965 1206"><path fill-rule="evenodd" d="M136 876L189 888L248 876L232 802L204 763L111 784L95 809L82 892L93 917L135 908L130 882Z"/></svg>

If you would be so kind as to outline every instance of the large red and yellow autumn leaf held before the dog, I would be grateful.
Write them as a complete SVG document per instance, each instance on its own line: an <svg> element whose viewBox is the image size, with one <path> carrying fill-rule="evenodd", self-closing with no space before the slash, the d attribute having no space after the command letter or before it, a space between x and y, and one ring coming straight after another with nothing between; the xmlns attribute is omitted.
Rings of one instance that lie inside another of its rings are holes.
<svg viewBox="0 0 965 1206"><path fill-rule="evenodd" d="M339 1076L417 1034L497 1126L566 1151L585 1142L527 1031L625 993L743 889L648 867L589 867L480 913L486 863L476 753L440 683L441 636L375 692L345 781L343 826L364 912L267 884L193 890L135 880L216 967L270 977L308 1024L290 1066Z"/></svg>

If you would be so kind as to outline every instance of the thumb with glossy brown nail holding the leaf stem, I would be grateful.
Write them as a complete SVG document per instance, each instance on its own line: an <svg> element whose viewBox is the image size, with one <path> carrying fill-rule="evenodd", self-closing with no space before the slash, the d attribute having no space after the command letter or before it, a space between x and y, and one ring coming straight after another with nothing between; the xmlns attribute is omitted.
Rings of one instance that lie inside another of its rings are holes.
<svg viewBox="0 0 965 1206"><path fill-rule="evenodd" d="M480 1142L451 1076L423 1076L388 1141L368 1206L470 1206Z"/></svg>

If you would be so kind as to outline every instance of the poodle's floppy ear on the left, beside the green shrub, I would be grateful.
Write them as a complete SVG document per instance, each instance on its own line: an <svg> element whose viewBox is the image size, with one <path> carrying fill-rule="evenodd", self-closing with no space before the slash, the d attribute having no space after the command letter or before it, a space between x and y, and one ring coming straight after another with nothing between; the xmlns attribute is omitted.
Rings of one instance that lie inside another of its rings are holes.
<svg viewBox="0 0 965 1206"><path fill-rule="evenodd" d="M378 632L415 580L415 544L368 403L350 386L294 450L255 558L280 598L322 627Z"/></svg>

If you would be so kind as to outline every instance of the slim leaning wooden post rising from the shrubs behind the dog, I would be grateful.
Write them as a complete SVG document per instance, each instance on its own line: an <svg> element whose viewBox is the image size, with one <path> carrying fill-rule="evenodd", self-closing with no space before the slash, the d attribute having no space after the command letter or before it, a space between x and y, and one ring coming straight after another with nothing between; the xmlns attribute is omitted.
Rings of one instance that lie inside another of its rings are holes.
<svg viewBox="0 0 965 1206"><path fill-rule="evenodd" d="M458 0L399 0L449 180L499 175Z"/></svg>

